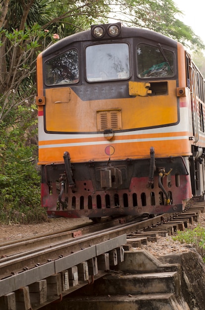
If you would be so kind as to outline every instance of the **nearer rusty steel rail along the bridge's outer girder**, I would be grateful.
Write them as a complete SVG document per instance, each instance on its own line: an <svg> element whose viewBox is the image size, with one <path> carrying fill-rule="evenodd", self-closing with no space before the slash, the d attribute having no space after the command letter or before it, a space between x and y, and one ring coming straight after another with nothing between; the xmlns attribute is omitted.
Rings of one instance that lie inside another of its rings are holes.
<svg viewBox="0 0 205 310"><path fill-rule="evenodd" d="M63 242L55 242L47 247L35 247L32 251L25 251L19 255L10 258L0 259L0 278L7 277L11 273L18 273L22 270L28 270L35 265L45 264L48 261L56 260L59 257L68 256L72 253L79 252L82 249L90 248L99 243L113 239L122 234L128 234L133 230L139 230L154 223L157 223L161 216L148 219L143 222L135 220L130 223L119 224L115 227L109 227L97 232L89 232L83 236L72 238ZM98 226L98 225L97 225ZM97 227L98 228L98 227Z"/></svg>

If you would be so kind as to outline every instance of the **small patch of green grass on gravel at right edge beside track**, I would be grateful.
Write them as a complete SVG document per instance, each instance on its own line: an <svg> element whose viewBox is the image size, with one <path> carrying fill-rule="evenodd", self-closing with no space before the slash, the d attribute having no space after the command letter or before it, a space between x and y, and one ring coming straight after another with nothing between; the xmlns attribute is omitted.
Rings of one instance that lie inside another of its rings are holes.
<svg viewBox="0 0 205 310"><path fill-rule="evenodd" d="M205 262L205 228L198 225L196 228L186 229L185 231L178 231L177 235L173 237L181 243L192 244L197 252L202 256Z"/></svg>

